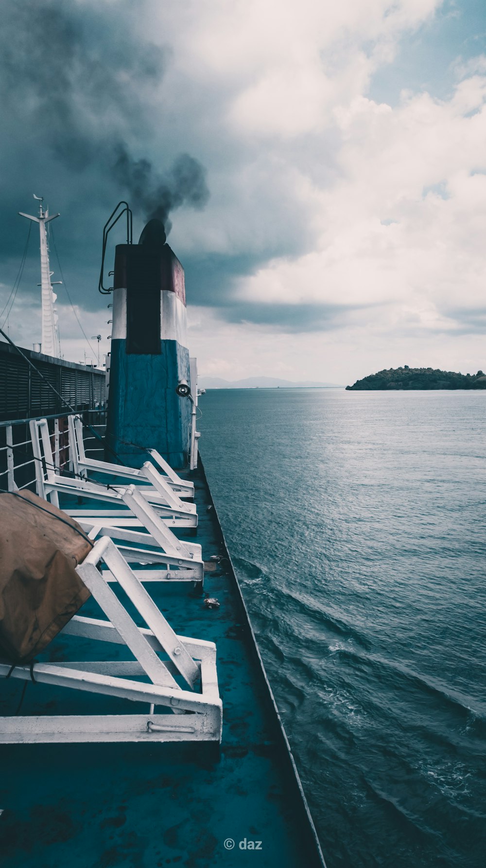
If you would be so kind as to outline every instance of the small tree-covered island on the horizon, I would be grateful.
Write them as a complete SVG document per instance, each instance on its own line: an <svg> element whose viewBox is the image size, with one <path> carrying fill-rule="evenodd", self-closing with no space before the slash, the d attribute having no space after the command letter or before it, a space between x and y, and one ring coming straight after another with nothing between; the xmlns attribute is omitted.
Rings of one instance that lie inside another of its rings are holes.
<svg viewBox="0 0 486 868"><path fill-rule="evenodd" d="M348 391L383 389L486 389L483 371L476 374L461 374L439 371L438 368L390 368L347 385Z"/></svg>

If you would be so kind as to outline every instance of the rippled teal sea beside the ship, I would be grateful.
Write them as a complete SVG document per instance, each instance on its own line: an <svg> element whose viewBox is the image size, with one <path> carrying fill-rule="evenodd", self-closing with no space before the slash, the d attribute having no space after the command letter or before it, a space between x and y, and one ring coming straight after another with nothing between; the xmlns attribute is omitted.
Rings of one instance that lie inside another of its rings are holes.
<svg viewBox="0 0 486 868"><path fill-rule="evenodd" d="M199 406L328 868L486 865L486 391Z"/></svg>

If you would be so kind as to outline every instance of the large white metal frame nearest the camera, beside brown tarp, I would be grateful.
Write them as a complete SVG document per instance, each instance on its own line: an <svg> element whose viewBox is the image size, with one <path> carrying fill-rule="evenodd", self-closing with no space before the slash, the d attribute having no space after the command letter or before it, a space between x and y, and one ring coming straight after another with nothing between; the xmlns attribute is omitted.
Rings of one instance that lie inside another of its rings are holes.
<svg viewBox="0 0 486 868"><path fill-rule="evenodd" d="M98 569L103 563L147 624L139 628ZM62 630L96 641L123 644L134 661L36 663L36 682L93 694L146 702L147 713L33 715L0 718L0 743L107 741L221 741L223 707L217 686L213 642L179 636L140 584L107 536L76 568L107 621L79 615ZM163 653L166 660L161 660ZM0 663L0 676L11 667ZM144 675L147 681L133 681ZM182 689L174 677L185 681ZM28 681L31 667L18 666L11 677ZM200 680L201 690L195 692ZM155 707L166 713L156 713Z"/></svg>

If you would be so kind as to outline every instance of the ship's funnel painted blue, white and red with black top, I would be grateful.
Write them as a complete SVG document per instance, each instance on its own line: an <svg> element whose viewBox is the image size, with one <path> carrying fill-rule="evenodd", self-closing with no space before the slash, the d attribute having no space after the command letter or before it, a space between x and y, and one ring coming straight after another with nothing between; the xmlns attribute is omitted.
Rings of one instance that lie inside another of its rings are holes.
<svg viewBox="0 0 486 868"><path fill-rule="evenodd" d="M176 393L190 380L184 269L154 222L115 253L107 460L114 451L141 467L156 449L182 468L191 444L191 400Z"/></svg>

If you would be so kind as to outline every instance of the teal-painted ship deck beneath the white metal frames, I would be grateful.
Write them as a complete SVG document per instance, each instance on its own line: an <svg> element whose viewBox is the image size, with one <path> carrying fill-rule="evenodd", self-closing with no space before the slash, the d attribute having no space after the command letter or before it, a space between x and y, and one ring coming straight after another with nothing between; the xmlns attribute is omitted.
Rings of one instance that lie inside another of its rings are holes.
<svg viewBox="0 0 486 868"><path fill-rule="evenodd" d="M223 558L204 579L204 595L220 606L207 608L185 583L147 587L176 632L217 644L222 744L1 745L3 868L323 865L202 466L191 479L193 542L204 560ZM100 610L91 599L80 614ZM80 651L85 659L127 659L120 645L87 643L59 635L37 660L76 660ZM16 713L22 689L3 681L0 713ZM120 701L29 683L22 714L84 713L87 702L90 713L122 713ZM258 855L250 841L261 842Z"/></svg>

